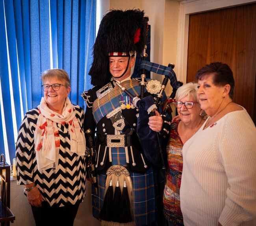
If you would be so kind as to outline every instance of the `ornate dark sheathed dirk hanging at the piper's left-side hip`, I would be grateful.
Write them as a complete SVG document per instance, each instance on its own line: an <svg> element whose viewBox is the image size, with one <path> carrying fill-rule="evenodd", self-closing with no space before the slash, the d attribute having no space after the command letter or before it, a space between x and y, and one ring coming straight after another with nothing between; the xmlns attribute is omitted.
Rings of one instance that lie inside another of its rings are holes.
<svg viewBox="0 0 256 226"><path fill-rule="evenodd" d="M91 182L95 187L95 193L97 195L98 185L97 185L97 175L95 170L95 152L94 152L94 145L93 145L93 137L90 129L85 131L85 139L89 147L88 164L87 164L89 178L91 178Z"/></svg>

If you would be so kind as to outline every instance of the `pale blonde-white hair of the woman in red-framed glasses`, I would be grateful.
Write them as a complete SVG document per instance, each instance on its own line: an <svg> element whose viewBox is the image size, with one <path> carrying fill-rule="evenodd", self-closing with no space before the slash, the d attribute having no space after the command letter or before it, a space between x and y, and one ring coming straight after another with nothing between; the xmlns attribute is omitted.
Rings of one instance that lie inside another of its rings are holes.
<svg viewBox="0 0 256 226"><path fill-rule="evenodd" d="M189 97L193 98L194 101L199 102L198 97L197 97L197 91L198 91L197 86L198 86L198 84L193 83L193 82L189 82L189 83L182 85L176 91L176 100L180 100L180 99L184 98L185 96L189 96Z"/></svg>

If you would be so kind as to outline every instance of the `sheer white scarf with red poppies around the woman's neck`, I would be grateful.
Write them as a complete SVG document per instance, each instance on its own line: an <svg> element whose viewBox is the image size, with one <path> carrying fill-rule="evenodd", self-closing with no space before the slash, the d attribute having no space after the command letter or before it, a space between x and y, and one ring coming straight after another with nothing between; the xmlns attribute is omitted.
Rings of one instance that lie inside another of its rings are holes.
<svg viewBox="0 0 256 226"><path fill-rule="evenodd" d="M43 97L38 109L39 116L34 133L35 156L38 170L58 168L60 138L57 123L68 125L70 150L66 149L66 151L84 156L85 135L76 118L75 107L71 104L69 98L66 99L61 115L49 109Z"/></svg>

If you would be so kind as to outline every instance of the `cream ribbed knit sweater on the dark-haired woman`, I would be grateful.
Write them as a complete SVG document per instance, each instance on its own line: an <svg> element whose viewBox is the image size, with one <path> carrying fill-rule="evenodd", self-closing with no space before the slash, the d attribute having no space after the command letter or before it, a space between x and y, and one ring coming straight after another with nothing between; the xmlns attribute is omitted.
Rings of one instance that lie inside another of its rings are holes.
<svg viewBox="0 0 256 226"><path fill-rule="evenodd" d="M205 123L183 147L184 224L256 226L255 125L245 109Z"/></svg>

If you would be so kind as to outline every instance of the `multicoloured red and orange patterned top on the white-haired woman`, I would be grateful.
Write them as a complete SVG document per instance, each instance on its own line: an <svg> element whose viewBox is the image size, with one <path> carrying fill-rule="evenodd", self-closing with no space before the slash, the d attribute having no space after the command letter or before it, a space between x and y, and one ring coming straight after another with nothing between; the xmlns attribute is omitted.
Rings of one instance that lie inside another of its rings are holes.
<svg viewBox="0 0 256 226"><path fill-rule="evenodd" d="M167 144L168 169L166 172L165 189L163 192L164 214L174 225L184 225L180 209L180 183L183 167L183 143L178 134L180 121L171 124L170 140Z"/></svg>

